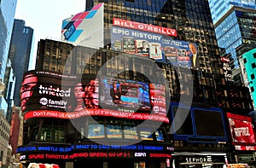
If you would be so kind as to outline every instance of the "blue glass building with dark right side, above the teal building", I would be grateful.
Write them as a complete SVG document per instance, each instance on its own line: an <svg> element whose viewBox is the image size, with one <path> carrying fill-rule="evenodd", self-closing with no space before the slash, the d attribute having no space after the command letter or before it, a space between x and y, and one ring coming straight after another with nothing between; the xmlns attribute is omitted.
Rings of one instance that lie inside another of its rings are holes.
<svg viewBox="0 0 256 168"><path fill-rule="evenodd" d="M236 48L241 45L255 47L255 10L232 7L214 25L218 46L230 54L230 66L239 68ZM250 50L249 49L249 50Z"/></svg>

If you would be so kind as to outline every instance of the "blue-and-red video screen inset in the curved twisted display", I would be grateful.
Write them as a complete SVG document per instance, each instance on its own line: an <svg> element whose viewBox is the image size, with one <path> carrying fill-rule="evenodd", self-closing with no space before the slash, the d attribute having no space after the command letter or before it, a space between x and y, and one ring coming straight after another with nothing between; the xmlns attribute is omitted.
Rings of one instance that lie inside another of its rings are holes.
<svg viewBox="0 0 256 168"><path fill-rule="evenodd" d="M108 107L123 107L131 112L150 111L147 83L118 78L102 78L100 104Z"/></svg>

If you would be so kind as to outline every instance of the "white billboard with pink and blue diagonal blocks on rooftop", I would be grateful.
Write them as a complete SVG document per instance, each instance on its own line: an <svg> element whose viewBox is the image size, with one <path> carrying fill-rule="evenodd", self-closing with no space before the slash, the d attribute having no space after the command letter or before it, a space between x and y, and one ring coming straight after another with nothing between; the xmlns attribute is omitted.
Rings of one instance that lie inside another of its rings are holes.
<svg viewBox="0 0 256 168"><path fill-rule="evenodd" d="M61 40L93 48L103 47L103 6L99 3L89 11L62 20Z"/></svg>

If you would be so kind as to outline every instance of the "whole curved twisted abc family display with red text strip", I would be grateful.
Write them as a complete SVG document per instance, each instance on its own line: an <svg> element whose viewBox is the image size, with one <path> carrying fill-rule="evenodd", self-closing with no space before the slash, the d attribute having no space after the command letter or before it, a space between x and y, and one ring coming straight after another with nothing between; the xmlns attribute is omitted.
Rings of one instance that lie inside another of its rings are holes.
<svg viewBox="0 0 256 168"><path fill-rule="evenodd" d="M94 115L168 123L163 109L165 88L160 84L151 85L154 89L149 88L148 83L127 79L96 78L90 74L78 78L34 70L24 75L20 89L21 108L25 119L78 119ZM100 138L101 131L100 126L91 126L90 136ZM131 135L127 133L127 136Z"/></svg>

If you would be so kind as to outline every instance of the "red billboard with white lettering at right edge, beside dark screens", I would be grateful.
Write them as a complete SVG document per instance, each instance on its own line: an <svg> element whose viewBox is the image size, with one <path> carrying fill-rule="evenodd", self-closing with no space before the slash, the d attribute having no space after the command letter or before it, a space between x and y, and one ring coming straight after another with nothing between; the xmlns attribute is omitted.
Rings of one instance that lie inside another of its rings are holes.
<svg viewBox="0 0 256 168"><path fill-rule="evenodd" d="M256 145L252 119L250 117L233 113L227 113L227 117L229 118L233 145L241 143Z"/></svg>

